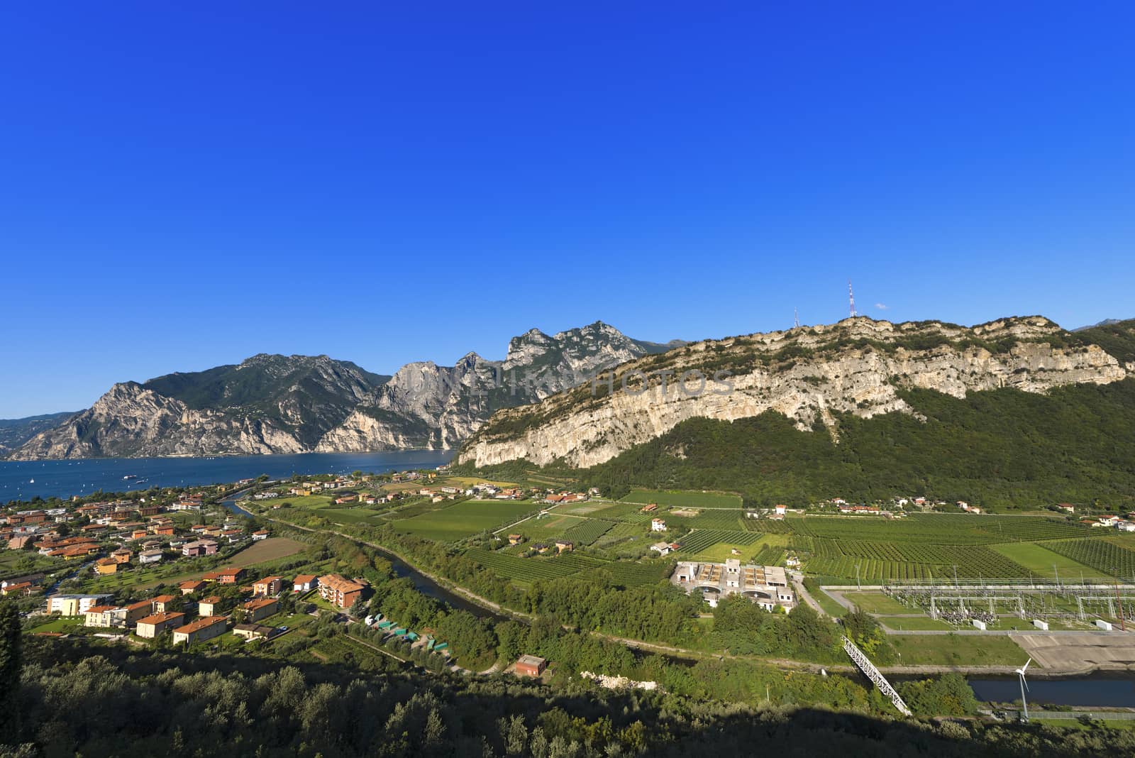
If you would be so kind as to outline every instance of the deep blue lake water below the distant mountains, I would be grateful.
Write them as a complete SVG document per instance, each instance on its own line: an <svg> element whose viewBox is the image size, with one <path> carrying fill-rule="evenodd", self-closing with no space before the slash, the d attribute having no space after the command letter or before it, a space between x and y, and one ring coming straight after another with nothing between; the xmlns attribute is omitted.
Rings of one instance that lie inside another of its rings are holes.
<svg viewBox="0 0 1135 758"><path fill-rule="evenodd" d="M40 497L125 492L151 487L216 485L268 474L384 473L432 469L448 463L453 450L390 453L301 453L205 458L83 458L74 461L0 461L0 503ZM124 479L124 477L132 477Z"/></svg>

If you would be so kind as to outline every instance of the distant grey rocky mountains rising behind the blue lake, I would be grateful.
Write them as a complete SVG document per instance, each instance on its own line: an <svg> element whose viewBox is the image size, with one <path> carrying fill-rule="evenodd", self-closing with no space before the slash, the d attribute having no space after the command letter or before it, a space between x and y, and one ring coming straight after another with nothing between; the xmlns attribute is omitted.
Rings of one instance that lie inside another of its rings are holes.
<svg viewBox="0 0 1135 758"><path fill-rule="evenodd" d="M453 367L410 363L394 376L326 355L261 354L235 365L116 384L78 413L0 422L0 455L448 449L501 407L539 401L598 367L681 344L632 339L597 321L552 336L531 329L510 342L504 361L469 353Z"/></svg>

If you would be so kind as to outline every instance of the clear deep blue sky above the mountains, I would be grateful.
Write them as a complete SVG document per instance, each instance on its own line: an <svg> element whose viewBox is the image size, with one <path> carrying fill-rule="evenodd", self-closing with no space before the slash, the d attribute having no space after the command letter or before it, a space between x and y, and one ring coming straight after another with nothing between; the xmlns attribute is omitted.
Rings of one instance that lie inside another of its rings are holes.
<svg viewBox="0 0 1135 758"><path fill-rule="evenodd" d="M1135 315L1129 2L180 5L0 9L0 418L258 352L831 322L849 278Z"/></svg>

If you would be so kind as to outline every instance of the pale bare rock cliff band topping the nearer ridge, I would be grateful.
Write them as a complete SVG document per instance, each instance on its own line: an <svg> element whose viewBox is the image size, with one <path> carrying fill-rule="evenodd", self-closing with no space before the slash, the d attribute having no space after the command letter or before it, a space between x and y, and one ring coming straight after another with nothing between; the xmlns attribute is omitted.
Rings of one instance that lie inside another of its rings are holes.
<svg viewBox="0 0 1135 758"><path fill-rule="evenodd" d="M898 395L901 387L956 397L999 387L1043 393L1117 381L1128 370L1103 348L1040 317L973 328L855 318L707 340L625 363L609 374L609 384L497 412L459 460L590 466L687 419L735 420L765 411L783 413L800 429L822 426L838 439L838 413L917 416ZM682 386L678 379L687 371Z"/></svg>

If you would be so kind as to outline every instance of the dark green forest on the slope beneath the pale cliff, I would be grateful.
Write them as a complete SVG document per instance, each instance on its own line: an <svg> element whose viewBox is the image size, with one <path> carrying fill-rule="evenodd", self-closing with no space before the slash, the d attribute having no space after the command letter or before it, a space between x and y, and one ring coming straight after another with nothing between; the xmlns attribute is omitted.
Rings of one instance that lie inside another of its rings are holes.
<svg viewBox="0 0 1135 758"><path fill-rule="evenodd" d="M1133 378L1048 395L900 394L925 421L842 414L836 443L822 427L801 431L774 412L733 422L690 419L591 469L547 471L616 497L641 486L731 490L753 505L920 495L998 507L1135 506ZM513 462L471 471L515 478L531 470Z"/></svg>

